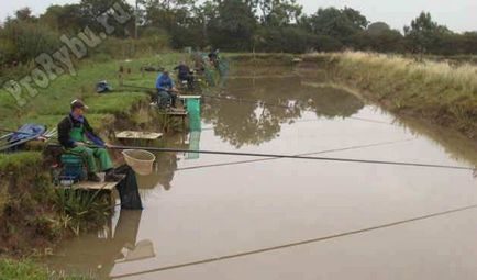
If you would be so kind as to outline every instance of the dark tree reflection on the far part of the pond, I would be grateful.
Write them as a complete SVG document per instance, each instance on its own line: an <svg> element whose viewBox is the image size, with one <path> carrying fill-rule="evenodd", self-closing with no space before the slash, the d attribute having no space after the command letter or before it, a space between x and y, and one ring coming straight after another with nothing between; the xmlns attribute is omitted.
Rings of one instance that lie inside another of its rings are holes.
<svg viewBox="0 0 477 280"><path fill-rule="evenodd" d="M304 85L299 76L265 77L259 82L231 79L221 97L207 101L204 120L213 124L218 136L237 148L278 137L280 125L301 117L304 111L313 111L318 117L347 117L365 105L342 89Z"/></svg>

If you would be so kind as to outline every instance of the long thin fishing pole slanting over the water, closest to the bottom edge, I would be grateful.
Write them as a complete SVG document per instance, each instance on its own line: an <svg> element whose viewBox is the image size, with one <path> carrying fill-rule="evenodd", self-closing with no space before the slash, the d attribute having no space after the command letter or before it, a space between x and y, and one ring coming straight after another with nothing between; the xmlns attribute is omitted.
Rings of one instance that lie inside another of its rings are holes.
<svg viewBox="0 0 477 280"><path fill-rule="evenodd" d="M224 255L224 256L220 256L220 257L212 257L212 258L201 259L201 260L196 260L196 261L190 261L190 262L165 266L165 267L145 270L145 271L135 272L135 273L125 273L125 275L120 275L120 276L113 276L111 278L115 279L115 278L123 278L123 277L141 276L141 275L146 275L146 273L160 272L160 271L165 271L165 270L173 270L173 269L192 267L192 266L198 266L198 265L206 265L206 264L211 264L211 262L217 262L217 261L222 261L222 260L228 260L228 259L235 259L235 258L240 258L240 257L258 255L258 254L268 253L268 251L275 251L275 250L281 250L281 249L287 249L287 248L292 248L292 247L299 247L299 246L303 246L303 245L336 239L336 238L357 235L357 234L364 234L364 233L374 232L374 231L378 231L378 229L390 228L390 227L395 227L398 225L414 223L418 221L423 221L423 220L428 220L428 219L432 219L432 217L436 217L436 216L445 216L445 215L450 215L450 214L454 214L454 213L458 213L458 212L464 212L464 211L473 210L473 209L477 209L477 204L465 206L465 208L447 210L447 211L437 212L437 213L432 213L432 214L428 214L428 215L411 217L411 219L401 220L398 222L392 222L392 223L387 223L387 224L381 224L381 225L376 225L376 226L371 226L371 227L365 227L365 228L360 228L360 229L356 229L356 231L339 233L339 234L317 237L317 238L312 238L312 239L304 239L304 240L300 240L300 242L288 243L288 244L284 244L284 245L266 247L266 248L256 249L256 250L242 251L242 253L237 253L237 254L233 254L233 255Z"/></svg>

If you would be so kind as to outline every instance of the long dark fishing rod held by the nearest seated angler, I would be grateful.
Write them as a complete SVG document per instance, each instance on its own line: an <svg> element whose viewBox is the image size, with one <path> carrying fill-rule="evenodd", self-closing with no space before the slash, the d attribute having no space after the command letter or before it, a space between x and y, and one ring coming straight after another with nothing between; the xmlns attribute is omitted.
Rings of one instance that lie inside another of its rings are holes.
<svg viewBox="0 0 477 280"><path fill-rule="evenodd" d="M110 148L110 149L144 149L144 150L149 150L149 152L162 152L162 153L193 153L193 154L209 154L209 155L271 157L271 158L289 158L289 159L302 159L302 160L340 161L340 163L354 163L354 164L412 166L412 167L429 167L429 168L472 170L472 171L475 170L475 168L465 167L465 166L419 164L419 163L406 163L406 161L387 161L387 160L371 160L371 159L335 158L335 157L293 156L293 155L280 155L280 154L239 153L239 152L222 152L222 150L200 150L200 149L182 149L182 148L137 147L137 146L110 146L108 148Z"/></svg>

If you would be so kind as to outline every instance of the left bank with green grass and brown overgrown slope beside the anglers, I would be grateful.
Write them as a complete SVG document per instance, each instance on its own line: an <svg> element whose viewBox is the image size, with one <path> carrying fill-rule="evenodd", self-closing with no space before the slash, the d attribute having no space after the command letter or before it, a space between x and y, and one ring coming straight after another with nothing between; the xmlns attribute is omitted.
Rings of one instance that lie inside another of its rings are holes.
<svg viewBox="0 0 477 280"><path fill-rule="evenodd" d="M27 103L22 108L9 92L0 90L0 127L15 130L24 123L55 127L77 98L89 105L87 117L104 138L118 126L144 127L151 122L145 110L151 102L147 93L121 89L97 94L96 83L108 80L119 89L122 66L124 82L137 80L154 87L157 72L141 74L140 68L144 65L171 68L182 58L180 54L159 54L134 60L81 61L76 76L59 77L48 88L37 89L34 98L24 94ZM90 205L90 194L62 193L51 181L49 167L41 152L0 154L0 256L43 255L60 239L104 222L101 200Z"/></svg>

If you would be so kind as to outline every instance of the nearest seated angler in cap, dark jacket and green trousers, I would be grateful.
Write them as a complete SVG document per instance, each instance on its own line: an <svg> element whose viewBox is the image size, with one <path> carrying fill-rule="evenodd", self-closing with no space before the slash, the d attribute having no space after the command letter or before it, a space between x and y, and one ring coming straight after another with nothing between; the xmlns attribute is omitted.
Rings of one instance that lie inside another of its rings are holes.
<svg viewBox="0 0 477 280"><path fill-rule="evenodd" d="M87 105L80 100L71 102L71 112L58 124L58 141L70 154L77 154L84 158L88 166L88 180L99 182L101 179L97 172L106 172L106 181L119 181L121 178L114 173L113 165L104 143L89 125L85 117ZM96 163L100 161L100 168Z"/></svg>

